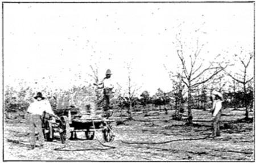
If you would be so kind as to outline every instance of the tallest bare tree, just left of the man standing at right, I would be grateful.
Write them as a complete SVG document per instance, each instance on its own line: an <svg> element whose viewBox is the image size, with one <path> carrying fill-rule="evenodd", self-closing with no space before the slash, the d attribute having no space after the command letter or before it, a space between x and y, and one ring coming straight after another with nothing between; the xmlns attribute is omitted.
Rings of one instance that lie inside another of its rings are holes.
<svg viewBox="0 0 256 163"><path fill-rule="evenodd" d="M176 35L176 41L173 43L180 59L181 70L183 71L181 80L188 88L188 124L192 125L193 116L191 109L193 100L191 93L193 92L193 89L199 87L201 84L207 83L210 79L219 74L227 67L227 62L224 63L222 60L222 62L217 63L217 58L220 56L217 55L213 61L205 63L204 59L200 58L204 44L199 45L198 39L195 48L188 48L189 52L184 50L185 42L181 41L180 36ZM189 57L189 60L185 59L185 57ZM225 66L221 66L223 63Z"/></svg>

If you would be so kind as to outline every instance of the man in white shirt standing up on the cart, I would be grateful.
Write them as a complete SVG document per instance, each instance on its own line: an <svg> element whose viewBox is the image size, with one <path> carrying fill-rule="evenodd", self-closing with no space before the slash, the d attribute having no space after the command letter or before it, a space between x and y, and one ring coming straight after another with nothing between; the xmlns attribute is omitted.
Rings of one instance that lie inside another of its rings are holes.
<svg viewBox="0 0 256 163"><path fill-rule="evenodd" d="M103 88L104 97L103 97L102 101L100 101L100 103L103 101L106 101L106 105L104 107L105 111L112 108L110 106L110 98L112 98L112 90L114 88L114 85L113 85L112 79L110 78L111 75L112 75L112 73L108 69L106 71L106 77L103 79L102 83L98 84L98 85L102 85L101 87L98 87L98 88L100 88L100 89ZM97 85L97 84L94 84L94 85Z"/></svg>

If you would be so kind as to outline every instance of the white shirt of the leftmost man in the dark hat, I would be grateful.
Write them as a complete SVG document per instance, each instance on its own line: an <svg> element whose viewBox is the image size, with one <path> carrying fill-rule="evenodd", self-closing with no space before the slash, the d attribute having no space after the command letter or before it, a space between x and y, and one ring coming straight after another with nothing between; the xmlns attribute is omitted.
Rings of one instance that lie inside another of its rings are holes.
<svg viewBox="0 0 256 163"><path fill-rule="evenodd" d="M30 106L27 109L27 112L31 113L31 114L37 114L37 115L42 115L43 111L46 111L49 114L53 114L52 111L52 106L51 104L49 104L48 100L41 100L41 101L35 101L32 104L30 104Z"/></svg>

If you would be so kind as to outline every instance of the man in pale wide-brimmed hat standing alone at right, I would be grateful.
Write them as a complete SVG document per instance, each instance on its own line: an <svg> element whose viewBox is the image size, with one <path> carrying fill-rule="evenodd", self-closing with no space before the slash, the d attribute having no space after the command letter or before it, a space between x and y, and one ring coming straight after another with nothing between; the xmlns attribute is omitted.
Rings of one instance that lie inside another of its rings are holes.
<svg viewBox="0 0 256 163"><path fill-rule="evenodd" d="M220 118L221 118L221 108L223 97L220 92L213 91L213 107L212 107L212 116L213 118L213 138L220 136Z"/></svg>

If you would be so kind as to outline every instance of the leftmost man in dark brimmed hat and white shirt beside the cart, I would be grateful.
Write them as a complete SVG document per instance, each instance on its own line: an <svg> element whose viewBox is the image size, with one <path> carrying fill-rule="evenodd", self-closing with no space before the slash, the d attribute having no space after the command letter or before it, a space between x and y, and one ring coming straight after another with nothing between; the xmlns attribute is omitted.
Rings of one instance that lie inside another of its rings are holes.
<svg viewBox="0 0 256 163"><path fill-rule="evenodd" d="M38 130L38 134L39 134L39 147L42 148L44 145L44 135L42 130L42 120L41 120L41 116L44 113L44 111L56 117L56 115L52 111L51 105L47 100L45 100L46 98L43 97L41 92L38 92L34 98L35 98L35 101L32 104L30 104L30 106L27 109L27 112L31 113L30 115L31 149L35 148L35 129Z"/></svg>

